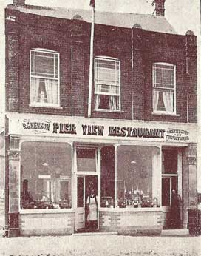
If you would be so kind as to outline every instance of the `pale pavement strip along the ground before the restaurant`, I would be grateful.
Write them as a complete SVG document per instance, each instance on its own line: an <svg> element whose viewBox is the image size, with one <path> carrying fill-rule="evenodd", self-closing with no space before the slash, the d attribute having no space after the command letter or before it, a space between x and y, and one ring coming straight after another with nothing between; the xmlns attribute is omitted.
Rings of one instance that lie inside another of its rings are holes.
<svg viewBox="0 0 201 256"><path fill-rule="evenodd" d="M200 256L201 236L69 235L0 238L2 256Z"/></svg>

